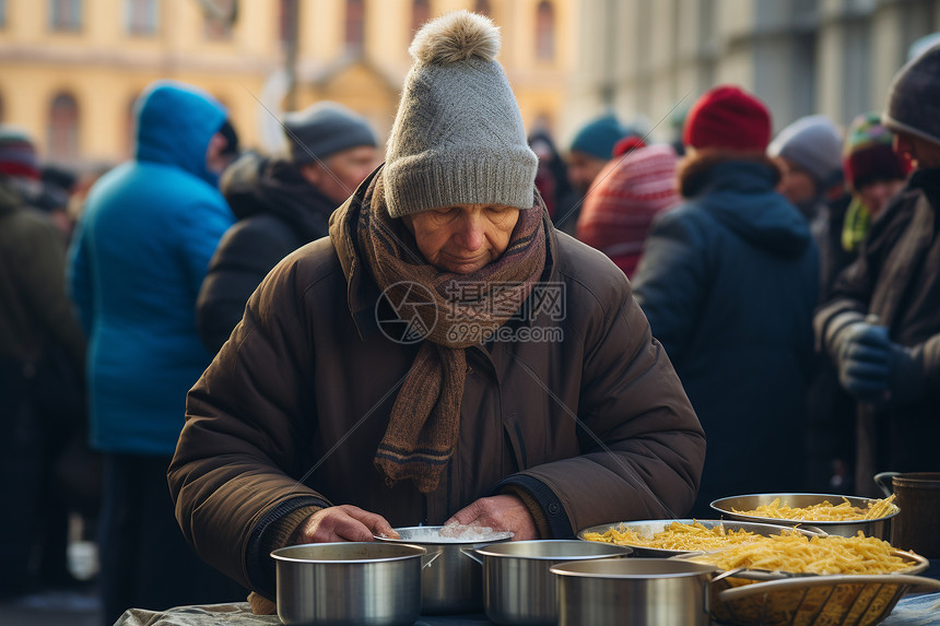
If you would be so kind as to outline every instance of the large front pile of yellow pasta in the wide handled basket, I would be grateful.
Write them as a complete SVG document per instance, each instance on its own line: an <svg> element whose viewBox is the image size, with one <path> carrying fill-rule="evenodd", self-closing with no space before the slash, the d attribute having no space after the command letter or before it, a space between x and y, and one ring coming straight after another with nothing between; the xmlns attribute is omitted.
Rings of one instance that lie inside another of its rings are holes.
<svg viewBox="0 0 940 626"><path fill-rule="evenodd" d="M886 541L865 536L808 538L788 532L692 558L719 569L763 569L789 574L891 574L910 567L909 560L891 554Z"/></svg>

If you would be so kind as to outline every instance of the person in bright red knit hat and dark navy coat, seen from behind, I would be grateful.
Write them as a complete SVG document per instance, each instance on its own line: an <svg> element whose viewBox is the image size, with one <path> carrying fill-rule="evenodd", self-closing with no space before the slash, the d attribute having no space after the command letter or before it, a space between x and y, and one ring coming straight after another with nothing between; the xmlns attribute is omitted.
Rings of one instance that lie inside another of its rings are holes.
<svg viewBox="0 0 940 626"><path fill-rule="evenodd" d="M722 85L698 98L683 130L684 202L654 224L633 280L705 428L696 517L722 496L802 487L819 255L775 191L769 139L752 94Z"/></svg>

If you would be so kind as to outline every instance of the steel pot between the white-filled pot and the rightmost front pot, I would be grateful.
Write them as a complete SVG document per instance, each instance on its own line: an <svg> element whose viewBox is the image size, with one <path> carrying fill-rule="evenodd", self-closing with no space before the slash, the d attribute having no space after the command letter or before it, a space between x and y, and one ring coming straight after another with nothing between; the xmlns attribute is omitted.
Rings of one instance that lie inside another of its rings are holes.
<svg viewBox="0 0 940 626"><path fill-rule="evenodd" d="M554 626L557 582L549 571L575 560L627 556L622 545L578 540L517 541L473 551L483 563L483 609L496 624Z"/></svg>

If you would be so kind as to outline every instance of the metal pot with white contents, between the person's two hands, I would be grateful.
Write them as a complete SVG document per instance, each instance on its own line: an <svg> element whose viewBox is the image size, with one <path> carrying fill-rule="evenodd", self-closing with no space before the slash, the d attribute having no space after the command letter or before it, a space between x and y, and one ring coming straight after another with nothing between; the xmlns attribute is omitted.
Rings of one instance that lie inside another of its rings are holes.
<svg viewBox="0 0 940 626"><path fill-rule="evenodd" d="M512 532L493 532L485 541L440 536L444 527L397 528L400 539L376 536L378 541L410 543L438 554L421 572L421 612L479 613L483 610L483 569L467 551L509 541ZM436 536L435 536L436 535Z"/></svg>

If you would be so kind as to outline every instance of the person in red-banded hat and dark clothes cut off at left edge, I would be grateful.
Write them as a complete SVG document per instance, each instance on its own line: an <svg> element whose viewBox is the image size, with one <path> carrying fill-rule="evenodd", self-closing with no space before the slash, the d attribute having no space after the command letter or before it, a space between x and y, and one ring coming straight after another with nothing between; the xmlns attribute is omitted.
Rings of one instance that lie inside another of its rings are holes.
<svg viewBox="0 0 940 626"><path fill-rule="evenodd" d="M7 435L0 441L0 489L9 498L8 515L0 517L0 598L48 578L66 581L64 532L58 534L52 523L63 521L57 501L62 489L50 488L46 476L74 415L52 413L68 397L54 375L81 379L85 336L66 295L66 244L34 206L38 181L32 139L0 125L0 429Z"/></svg>

